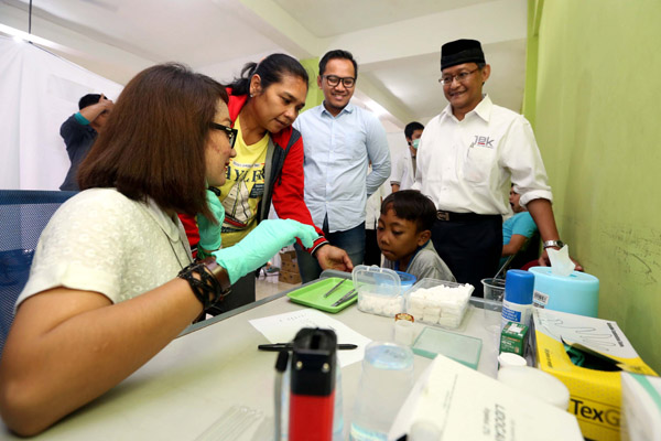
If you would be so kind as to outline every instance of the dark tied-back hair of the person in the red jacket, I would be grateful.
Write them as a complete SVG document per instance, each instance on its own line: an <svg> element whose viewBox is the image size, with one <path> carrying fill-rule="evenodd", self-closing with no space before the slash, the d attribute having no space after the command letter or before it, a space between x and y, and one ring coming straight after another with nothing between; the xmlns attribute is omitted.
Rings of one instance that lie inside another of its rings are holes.
<svg viewBox="0 0 661 441"><path fill-rule="evenodd" d="M259 75L261 78L262 90L269 88L274 83L282 82L283 76L297 76L307 85L310 78L305 67L296 58L285 54L271 54L259 63L248 63L241 69L241 76L235 78L228 87L231 87L232 95L249 95L250 78L252 75Z"/></svg>

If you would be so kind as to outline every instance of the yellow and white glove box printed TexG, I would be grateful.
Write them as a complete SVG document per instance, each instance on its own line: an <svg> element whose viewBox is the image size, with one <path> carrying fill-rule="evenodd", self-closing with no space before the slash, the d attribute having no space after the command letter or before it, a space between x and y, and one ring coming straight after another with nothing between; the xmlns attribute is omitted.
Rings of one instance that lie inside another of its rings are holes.
<svg viewBox="0 0 661 441"><path fill-rule="evenodd" d="M583 435L598 441L619 440L621 370L576 366L562 341L587 346L626 365L629 372L657 374L640 359L616 322L537 308L532 318L538 367L570 389L567 410L576 416Z"/></svg>

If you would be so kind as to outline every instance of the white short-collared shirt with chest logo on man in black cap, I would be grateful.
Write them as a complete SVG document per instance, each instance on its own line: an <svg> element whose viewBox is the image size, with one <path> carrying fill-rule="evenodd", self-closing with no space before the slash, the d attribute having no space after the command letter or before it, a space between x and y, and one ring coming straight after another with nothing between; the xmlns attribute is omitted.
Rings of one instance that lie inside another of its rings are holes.
<svg viewBox="0 0 661 441"><path fill-rule="evenodd" d="M414 189L438 209L507 214L510 179L520 204L552 201L530 122L485 95L459 121L448 105L425 127L418 148Z"/></svg>

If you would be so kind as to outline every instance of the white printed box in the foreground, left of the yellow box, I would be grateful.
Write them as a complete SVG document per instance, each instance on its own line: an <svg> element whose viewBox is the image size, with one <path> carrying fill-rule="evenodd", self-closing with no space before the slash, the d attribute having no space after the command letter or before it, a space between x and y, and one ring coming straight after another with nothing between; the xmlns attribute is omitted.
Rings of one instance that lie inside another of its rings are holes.
<svg viewBox="0 0 661 441"><path fill-rule="evenodd" d="M438 355L403 404L389 440L424 427L437 440L582 441L576 418Z"/></svg>

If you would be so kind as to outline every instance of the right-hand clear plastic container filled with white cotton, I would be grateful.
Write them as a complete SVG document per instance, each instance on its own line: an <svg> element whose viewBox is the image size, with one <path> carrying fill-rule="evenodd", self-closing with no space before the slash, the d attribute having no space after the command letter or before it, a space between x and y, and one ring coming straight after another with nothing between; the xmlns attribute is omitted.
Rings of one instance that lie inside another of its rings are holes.
<svg viewBox="0 0 661 441"><path fill-rule="evenodd" d="M454 330L462 324L473 290L472 284L422 279L407 293L407 312L418 322Z"/></svg>

